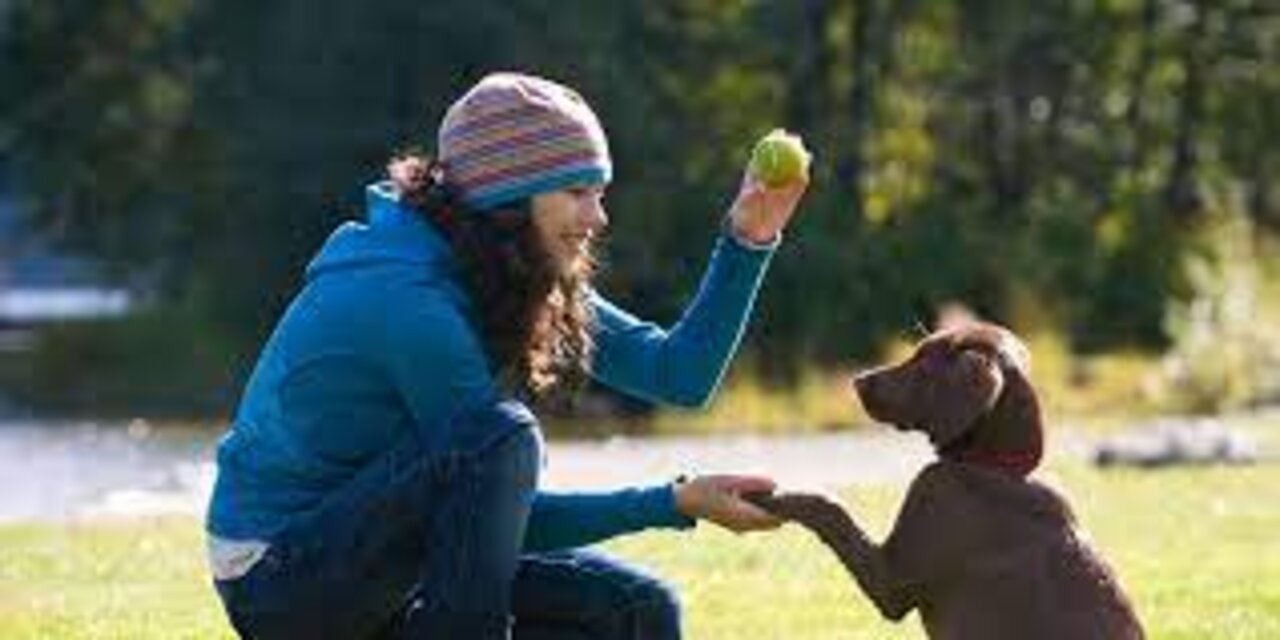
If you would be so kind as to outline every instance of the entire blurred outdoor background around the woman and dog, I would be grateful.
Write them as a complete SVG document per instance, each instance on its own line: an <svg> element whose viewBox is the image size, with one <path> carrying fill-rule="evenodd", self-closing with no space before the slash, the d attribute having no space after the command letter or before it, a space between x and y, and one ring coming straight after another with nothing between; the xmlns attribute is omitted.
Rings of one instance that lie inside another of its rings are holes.
<svg viewBox="0 0 1280 640"><path fill-rule="evenodd" d="M1152 637L1280 636L1274 0L0 0L0 636L229 637L200 511L257 348L506 69L602 116L599 285L659 323L754 141L814 152L714 403L549 407L552 485L760 471L878 535L931 452L847 375L972 314L1029 343L1046 471ZM800 532L707 529L613 547L694 637L919 637Z"/></svg>

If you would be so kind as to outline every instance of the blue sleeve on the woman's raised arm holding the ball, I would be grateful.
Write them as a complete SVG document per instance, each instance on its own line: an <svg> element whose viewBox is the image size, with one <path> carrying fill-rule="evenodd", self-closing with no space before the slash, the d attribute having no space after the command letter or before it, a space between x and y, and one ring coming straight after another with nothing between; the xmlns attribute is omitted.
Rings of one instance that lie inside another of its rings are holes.
<svg viewBox="0 0 1280 640"><path fill-rule="evenodd" d="M777 242L748 246L723 233L698 294L669 329L643 321L593 292L593 376L649 401L705 404L737 349L776 247Z"/></svg>

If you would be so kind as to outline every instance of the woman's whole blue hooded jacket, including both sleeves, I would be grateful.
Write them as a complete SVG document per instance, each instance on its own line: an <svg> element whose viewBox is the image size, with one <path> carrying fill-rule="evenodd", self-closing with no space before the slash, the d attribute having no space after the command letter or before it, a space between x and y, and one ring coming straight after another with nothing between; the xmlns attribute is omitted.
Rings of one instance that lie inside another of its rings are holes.
<svg viewBox="0 0 1280 640"><path fill-rule="evenodd" d="M591 375L655 402L705 403L737 348L773 248L722 237L671 330L593 293ZM269 540L412 431L428 453L444 453L520 428L449 420L500 399L470 305L444 238L388 183L370 186L367 223L334 230L259 357L219 445L209 531ZM539 493L525 547L690 525L669 485Z"/></svg>

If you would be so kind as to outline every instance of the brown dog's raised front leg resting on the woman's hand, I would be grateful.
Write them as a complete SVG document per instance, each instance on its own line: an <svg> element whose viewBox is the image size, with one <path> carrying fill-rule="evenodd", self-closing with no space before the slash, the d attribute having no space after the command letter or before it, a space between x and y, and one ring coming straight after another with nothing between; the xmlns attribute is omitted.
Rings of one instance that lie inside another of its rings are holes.
<svg viewBox="0 0 1280 640"><path fill-rule="evenodd" d="M840 504L806 493L748 494L744 498L817 534L886 618L902 620L915 608L918 600L913 586L895 576L883 550Z"/></svg>

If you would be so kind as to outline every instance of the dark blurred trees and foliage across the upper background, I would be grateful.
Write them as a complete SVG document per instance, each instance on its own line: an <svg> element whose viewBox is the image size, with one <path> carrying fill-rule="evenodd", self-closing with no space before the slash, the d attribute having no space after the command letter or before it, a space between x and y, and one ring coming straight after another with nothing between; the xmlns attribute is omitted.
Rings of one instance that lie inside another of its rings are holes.
<svg viewBox="0 0 1280 640"><path fill-rule="evenodd" d="M604 284L658 320L750 142L805 134L814 184L748 343L774 383L948 301L1036 308L1075 351L1166 349L1166 319L1206 294L1187 266L1215 198L1280 230L1263 0L19 0L0 20L0 157L27 210L205 310L228 357L390 151L431 147L449 100L503 68L600 111Z"/></svg>

